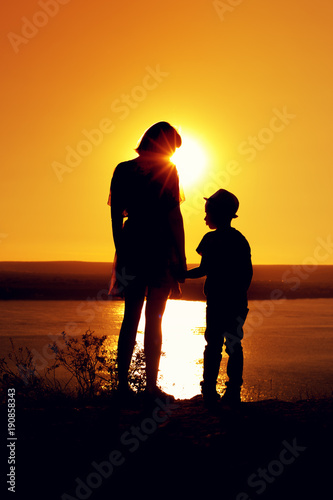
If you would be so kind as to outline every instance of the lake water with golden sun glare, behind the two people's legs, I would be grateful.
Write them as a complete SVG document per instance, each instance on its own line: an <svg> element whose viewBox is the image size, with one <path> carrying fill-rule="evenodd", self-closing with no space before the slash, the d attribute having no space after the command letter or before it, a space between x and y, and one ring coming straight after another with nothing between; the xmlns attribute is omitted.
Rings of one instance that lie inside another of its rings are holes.
<svg viewBox="0 0 333 500"><path fill-rule="evenodd" d="M11 337L29 347L43 370L52 362L48 345L61 332L81 335L91 329L107 335L116 348L122 301L33 300L0 302L0 352L7 355ZM333 388L333 299L250 301L244 328L244 401L295 400L331 395ZM141 318L137 341L143 343ZM200 392L205 345L205 303L169 300L163 318L164 355L160 385L177 398ZM220 390L227 355L220 370Z"/></svg>

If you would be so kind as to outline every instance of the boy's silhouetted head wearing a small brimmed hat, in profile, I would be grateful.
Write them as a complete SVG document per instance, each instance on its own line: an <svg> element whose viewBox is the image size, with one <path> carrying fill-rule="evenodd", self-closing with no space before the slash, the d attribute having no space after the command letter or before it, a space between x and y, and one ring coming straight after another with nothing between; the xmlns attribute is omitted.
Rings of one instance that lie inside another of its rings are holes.
<svg viewBox="0 0 333 500"><path fill-rule="evenodd" d="M216 229L219 226L230 224L231 219L238 217L236 212L239 207L239 201L236 196L226 189L219 189L206 200L206 224L210 229Z"/></svg>

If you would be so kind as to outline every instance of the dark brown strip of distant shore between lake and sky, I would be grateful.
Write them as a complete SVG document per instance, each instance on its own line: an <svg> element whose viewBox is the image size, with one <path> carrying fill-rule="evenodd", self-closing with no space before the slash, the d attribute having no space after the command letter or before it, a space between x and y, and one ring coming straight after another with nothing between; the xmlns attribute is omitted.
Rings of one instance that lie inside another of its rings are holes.
<svg viewBox="0 0 333 500"><path fill-rule="evenodd" d="M110 262L0 262L0 300L107 300L111 272ZM205 300L203 284L181 284L182 299ZM333 298L333 266L255 265L248 297Z"/></svg>

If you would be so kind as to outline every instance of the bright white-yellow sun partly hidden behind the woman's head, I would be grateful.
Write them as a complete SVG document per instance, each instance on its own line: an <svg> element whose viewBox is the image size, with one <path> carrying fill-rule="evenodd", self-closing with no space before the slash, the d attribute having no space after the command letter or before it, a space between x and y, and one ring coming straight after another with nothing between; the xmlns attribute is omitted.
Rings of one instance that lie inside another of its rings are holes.
<svg viewBox="0 0 333 500"><path fill-rule="evenodd" d="M182 145L176 149L171 161L176 165L180 184L188 187L195 183L203 174L207 157L200 143L191 136L181 134Z"/></svg>

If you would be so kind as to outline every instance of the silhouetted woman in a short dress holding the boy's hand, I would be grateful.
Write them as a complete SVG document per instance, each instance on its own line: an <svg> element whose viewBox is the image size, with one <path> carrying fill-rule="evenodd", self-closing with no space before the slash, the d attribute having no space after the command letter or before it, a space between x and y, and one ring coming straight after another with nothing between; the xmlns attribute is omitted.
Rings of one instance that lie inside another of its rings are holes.
<svg viewBox="0 0 333 500"><path fill-rule="evenodd" d="M111 180L116 276L121 281L115 283L113 290L122 290L125 299L118 340L121 395L129 392L128 369L146 297L146 394L152 398L161 396L156 381L162 316L174 280L183 281L186 271L179 178L170 162L180 145L181 137L169 123L156 123L143 135L136 149L139 156L120 163Z"/></svg>

